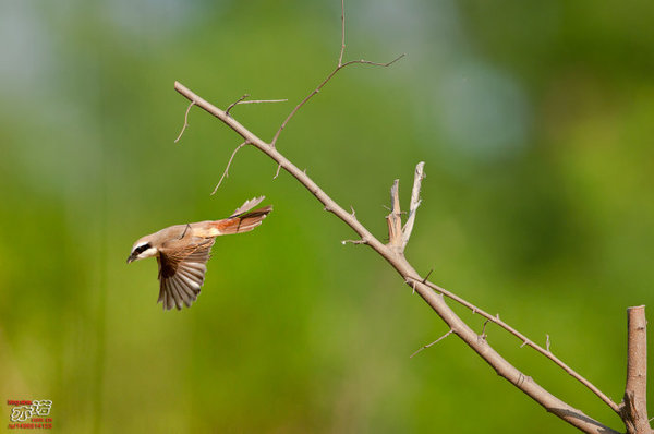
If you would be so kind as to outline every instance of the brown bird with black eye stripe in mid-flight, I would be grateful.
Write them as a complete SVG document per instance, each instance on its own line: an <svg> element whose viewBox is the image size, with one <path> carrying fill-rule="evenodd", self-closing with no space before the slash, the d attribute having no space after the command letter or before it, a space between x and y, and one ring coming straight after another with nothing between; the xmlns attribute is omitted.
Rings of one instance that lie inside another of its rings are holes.
<svg viewBox="0 0 654 434"><path fill-rule="evenodd" d="M272 206L253 209L265 196L245 201L231 216L221 220L206 220L174 225L136 240L128 257L128 264L155 256L159 264L159 298L164 310L184 305L190 308L197 300L204 284L206 263L210 257L216 237L249 232L259 226L272 210Z"/></svg>

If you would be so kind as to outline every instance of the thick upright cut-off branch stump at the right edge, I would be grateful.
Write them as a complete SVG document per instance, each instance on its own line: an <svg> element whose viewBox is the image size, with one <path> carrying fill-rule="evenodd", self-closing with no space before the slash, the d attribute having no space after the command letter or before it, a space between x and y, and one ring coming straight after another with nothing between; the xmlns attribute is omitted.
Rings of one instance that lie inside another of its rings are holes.
<svg viewBox="0 0 654 434"><path fill-rule="evenodd" d="M645 306L629 308L627 385L620 415L628 434L651 434L647 418L647 320Z"/></svg>

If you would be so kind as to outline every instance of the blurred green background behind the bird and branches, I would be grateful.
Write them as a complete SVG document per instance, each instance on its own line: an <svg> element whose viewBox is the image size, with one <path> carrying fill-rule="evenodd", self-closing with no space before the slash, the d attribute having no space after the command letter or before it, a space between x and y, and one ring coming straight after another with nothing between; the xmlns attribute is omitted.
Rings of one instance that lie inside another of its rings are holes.
<svg viewBox="0 0 654 434"><path fill-rule="evenodd" d="M373 233L426 161L409 260L544 343L619 401L626 308L654 300L654 3L349 1L343 70L278 147ZM0 3L0 398L52 399L65 433L552 433L352 232L194 108L270 140L331 70L340 3ZM265 194L219 239L198 302L162 312L141 236ZM652 306L654 308L654 306ZM651 308L651 309L652 309ZM455 309L481 331L482 321ZM650 317L652 310L650 310ZM604 423L619 419L488 326L506 358ZM652 333L651 335L652 336ZM651 342L651 348L654 347ZM652 382L650 382L652 385ZM652 386L651 386L652 387Z"/></svg>

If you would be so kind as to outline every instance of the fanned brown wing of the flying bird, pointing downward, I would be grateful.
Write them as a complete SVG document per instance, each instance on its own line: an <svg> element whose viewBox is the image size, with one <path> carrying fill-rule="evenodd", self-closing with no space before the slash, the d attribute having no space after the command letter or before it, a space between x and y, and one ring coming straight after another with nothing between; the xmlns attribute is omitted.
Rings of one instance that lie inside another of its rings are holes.
<svg viewBox="0 0 654 434"><path fill-rule="evenodd" d="M191 306L197 299L207 270L206 263L211 254L213 238L175 240L159 249L159 299L165 310L185 304Z"/></svg>

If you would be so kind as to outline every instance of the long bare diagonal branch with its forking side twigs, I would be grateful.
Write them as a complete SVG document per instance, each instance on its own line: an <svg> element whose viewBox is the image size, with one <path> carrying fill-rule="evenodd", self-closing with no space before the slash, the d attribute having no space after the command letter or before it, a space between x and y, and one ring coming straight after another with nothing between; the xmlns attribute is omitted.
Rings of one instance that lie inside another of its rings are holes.
<svg viewBox="0 0 654 434"><path fill-rule="evenodd" d="M402 230L401 226L401 212L399 205L399 192L398 192L398 181L393 183L393 189L391 190L392 197L392 210L388 218L389 225L389 243L384 244L377 238L375 238L354 216L354 213L350 214L346 212L341 206L339 206L327 193L325 193L307 174L305 171L300 170L295 165L289 161L282 154L280 154L276 149L276 144L279 138L279 135L289 123L289 121L295 116L295 113L343 68L350 64L370 64L376 67L389 67L399 59L401 59L404 55L399 56L395 60L387 63L377 63L371 62L367 60L351 60L348 62L342 61L343 53L346 49L346 14L344 14L344 0L341 0L341 48L338 58L337 67L331 71L327 77L314 89L295 108L289 113L289 116L281 123L280 128L277 130L272 141L270 143L266 143L261 140L258 136L254 135L250 130L239 123L237 120L231 118L228 112L225 112L217 108L216 106L207 103L198 95L194 94L187 87L182 85L179 82L175 82L174 88L184 97L186 97L192 105L197 105L203 108L205 111L220 119L225 124L227 124L230 129L241 135L244 140L244 144L252 144L264 154L268 155L272 160L275 160L278 165L277 174L279 174L280 169L284 169L291 176L293 176L302 185L304 185L325 207L325 210L335 214L338 218L340 218L343 222L346 222L354 232L356 232L360 237L360 241L352 241L355 243L362 243L371 246L375 252L377 252L382 257L384 257L399 274L402 276L403 280L410 285L414 292L417 292L420 297L443 318L443 321L449 326L450 331L448 331L440 339L449 336L450 334L457 335L461 340L463 340L470 348L472 348L486 363L488 363L498 375L502 376L511 384L513 384L517 388L522 390L524 394L530 396L533 400L543 406L547 411L554 413L561 420L568 422L569 424L580 429L586 433L596 433L596 434L607 434L607 433L617 433L616 431L609 429L608 426L603 425L598 421L588 417L581 410L576 409L568 405L567 402L560 400L559 398L552 395L549 391L544 389L542 386L536 384L531 377L524 375L520 372L516 366L511 365L506 359L504 359L499 353L493 349L486 339L473 331L465 322L463 322L445 302L444 294L447 294L451 299L462 302L463 305L470 305L473 309L473 312L479 312L484 315L488 321L493 321L496 324L501 325L509 331L513 333L516 336L519 336L523 340L523 345L530 345L532 348L541 348L533 343L531 340L523 337L517 330L512 329L510 326L506 325L504 322L499 320L499 316L491 316L485 312L474 308L471 303L468 303L463 299L458 298L457 296L450 293L449 291L443 290L438 287L434 288L435 285L428 282L426 279L421 279L420 275L413 268L413 266L405 260L403 255L403 250L411 237L411 232L413 229L413 225L415 221L415 212L420 206L420 186L421 181L424 178L424 164L421 162L417 165L415 170L415 178L413 183L413 191L411 197L410 205L410 214L407 224ZM190 106L191 107L191 106ZM190 108L189 108L190 109ZM189 110L187 110L189 111ZM243 144L243 145L244 145ZM235 152L243 145L240 145ZM232 158L233 155L232 154ZM230 162L231 159L230 158ZM228 164L229 169L229 164ZM227 173L227 169L226 169ZM225 176L225 174L223 174ZM347 240L349 241L349 240ZM346 241L346 242L347 242ZM436 290L436 291L435 291ZM460 301L461 300L461 301ZM484 331L483 331L484 333ZM438 339L438 340L440 340ZM437 341L438 341L437 340ZM434 345L437 341L431 343ZM429 345L429 346L431 346ZM425 346L425 348L428 346ZM558 360L549 351L549 346L547 350L543 350L541 348L541 352L546 353L546 355L554 360L555 362ZM562 364L562 362L561 362ZM561 365L559 364L559 365ZM562 364L561 367L566 366ZM567 366L566 366L567 367ZM565 367L564 367L565 369ZM571 370L570 370L571 371ZM567 371L568 372L568 371ZM573 371L572 371L573 372ZM570 373L570 372L569 372ZM571 374L572 375L572 374ZM579 375L577 377L578 381L583 379ZM598 389L596 389L590 382L582 382L586 387L591 388L595 394L597 394L611 409L616 409L617 405L615 405L610 399L606 398L604 394L602 394ZM592 386L592 387L591 387ZM593 389L594 388L594 389Z"/></svg>

